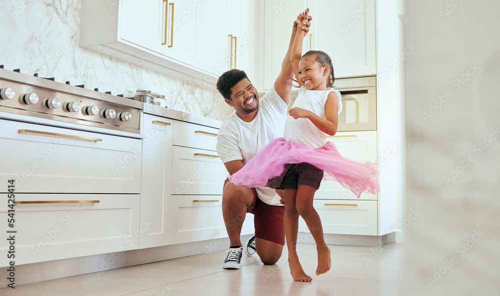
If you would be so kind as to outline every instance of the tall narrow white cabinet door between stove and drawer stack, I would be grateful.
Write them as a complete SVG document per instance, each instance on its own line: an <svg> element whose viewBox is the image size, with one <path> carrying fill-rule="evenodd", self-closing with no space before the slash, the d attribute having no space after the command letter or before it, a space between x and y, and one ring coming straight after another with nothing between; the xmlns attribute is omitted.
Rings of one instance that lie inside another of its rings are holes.
<svg viewBox="0 0 500 296"><path fill-rule="evenodd" d="M144 114L139 248L170 244L173 120Z"/></svg>

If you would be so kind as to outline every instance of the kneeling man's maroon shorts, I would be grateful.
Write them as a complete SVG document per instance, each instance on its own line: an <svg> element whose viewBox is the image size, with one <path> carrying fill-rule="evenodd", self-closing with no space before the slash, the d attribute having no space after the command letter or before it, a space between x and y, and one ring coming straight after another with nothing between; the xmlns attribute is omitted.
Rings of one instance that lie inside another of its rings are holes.
<svg viewBox="0 0 500 296"><path fill-rule="evenodd" d="M228 179L224 182L229 182ZM257 197L255 188L250 188L253 193L253 202L246 208L246 213L253 214L255 237L284 246L284 206L271 206Z"/></svg>

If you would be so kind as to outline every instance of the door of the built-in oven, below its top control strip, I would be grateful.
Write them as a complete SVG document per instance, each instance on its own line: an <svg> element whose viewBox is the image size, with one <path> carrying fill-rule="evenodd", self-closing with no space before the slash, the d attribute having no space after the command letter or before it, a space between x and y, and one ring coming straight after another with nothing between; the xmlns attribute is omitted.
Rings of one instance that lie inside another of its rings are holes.
<svg viewBox="0 0 500 296"><path fill-rule="evenodd" d="M337 131L376 130L376 88L337 89L342 95Z"/></svg>

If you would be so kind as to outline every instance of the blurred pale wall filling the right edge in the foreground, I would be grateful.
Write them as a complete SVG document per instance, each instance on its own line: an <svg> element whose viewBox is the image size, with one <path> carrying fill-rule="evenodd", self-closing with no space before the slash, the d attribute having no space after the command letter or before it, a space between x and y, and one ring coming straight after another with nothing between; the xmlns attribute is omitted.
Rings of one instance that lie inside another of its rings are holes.
<svg viewBox="0 0 500 296"><path fill-rule="evenodd" d="M403 295L500 295L500 1L408 0L405 11L416 49L405 63L414 214Z"/></svg>

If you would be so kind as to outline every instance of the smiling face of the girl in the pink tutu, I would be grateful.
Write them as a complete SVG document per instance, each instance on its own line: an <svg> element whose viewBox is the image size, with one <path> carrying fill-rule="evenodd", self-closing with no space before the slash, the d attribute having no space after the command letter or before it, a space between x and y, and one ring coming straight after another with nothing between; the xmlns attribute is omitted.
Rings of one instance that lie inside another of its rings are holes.
<svg viewBox="0 0 500 296"><path fill-rule="evenodd" d="M329 79L328 65L320 66L313 56L304 56L298 62L298 77L309 90L326 90Z"/></svg>

